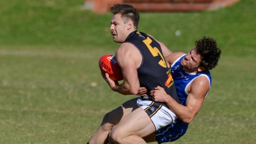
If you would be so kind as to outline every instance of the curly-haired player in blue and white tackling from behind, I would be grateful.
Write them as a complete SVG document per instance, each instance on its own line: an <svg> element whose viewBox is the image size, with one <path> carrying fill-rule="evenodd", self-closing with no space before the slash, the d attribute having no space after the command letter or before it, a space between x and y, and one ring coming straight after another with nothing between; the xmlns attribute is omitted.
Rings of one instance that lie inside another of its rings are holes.
<svg viewBox="0 0 256 144"><path fill-rule="evenodd" d="M145 137L146 142L157 141L159 144L173 142L186 133L188 124L200 111L204 98L210 90L209 70L217 66L220 55L221 50L215 40L203 37L196 41L196 47L187 54L175 52L165 58L171 65L171 74L180 104L169 98L161 87L150 91L150 95L155 102L167 103L178 119L176 123L162 127L156 133ZM146 91L145 88L140 88L139 94L143 95Z"/></svg>

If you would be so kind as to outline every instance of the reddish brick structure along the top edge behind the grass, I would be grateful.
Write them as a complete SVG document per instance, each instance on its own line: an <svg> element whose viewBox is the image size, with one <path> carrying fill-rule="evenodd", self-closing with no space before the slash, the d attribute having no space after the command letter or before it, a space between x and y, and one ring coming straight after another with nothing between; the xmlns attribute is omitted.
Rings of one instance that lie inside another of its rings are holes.
<svg viewBox="0 0 256 144"><path fill-rule="evenodd" d="M108 12L114 4L130 4L138 11L205 11L230 6L239 0L86 0L96 13Z"/></svg>

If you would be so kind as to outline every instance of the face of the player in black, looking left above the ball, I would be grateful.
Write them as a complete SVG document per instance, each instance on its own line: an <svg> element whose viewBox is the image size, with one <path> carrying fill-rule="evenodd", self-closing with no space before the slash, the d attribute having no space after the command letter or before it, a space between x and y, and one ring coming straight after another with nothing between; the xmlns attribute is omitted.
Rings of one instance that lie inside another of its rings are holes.
<svg viewBox="0 0 256 144"><path fill-rule="evenodd" d="M115 42L124 42L127 37L127 24L121 18L121 14L115 14L111 19L111 34Z"/></svg>

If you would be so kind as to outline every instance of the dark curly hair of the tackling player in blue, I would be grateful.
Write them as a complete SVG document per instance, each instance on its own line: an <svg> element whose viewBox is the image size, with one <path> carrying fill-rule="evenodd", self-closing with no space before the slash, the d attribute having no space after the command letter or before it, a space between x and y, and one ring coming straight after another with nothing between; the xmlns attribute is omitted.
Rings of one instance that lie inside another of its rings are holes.
<svg viewBox="0 0 256 144"><path fill-rule="evenodd" d="M210 37L203 37L195 41L197 54L201 56L200 66L206 70L211 70L218 65L219 58L221 57L221 49L217 47L217 43Z"/></svg>

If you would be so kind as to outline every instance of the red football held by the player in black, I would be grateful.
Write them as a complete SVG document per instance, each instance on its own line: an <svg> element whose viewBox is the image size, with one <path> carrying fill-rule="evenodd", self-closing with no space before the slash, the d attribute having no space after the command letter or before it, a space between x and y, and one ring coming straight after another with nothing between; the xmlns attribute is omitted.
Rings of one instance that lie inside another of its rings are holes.
<svg viewBox="0 0 256 144"><path fill-rule="evenodd" d="M105 74L108 73L109 78L113 81L121 81L124 79L122 77L122 70L117 63L117 58L115 55L103 55L99 60L100 70Z"/></svg>

